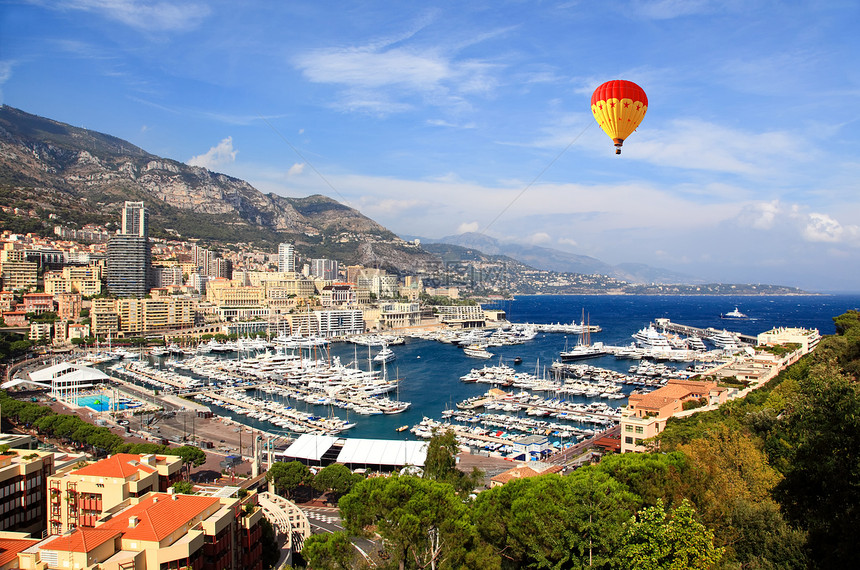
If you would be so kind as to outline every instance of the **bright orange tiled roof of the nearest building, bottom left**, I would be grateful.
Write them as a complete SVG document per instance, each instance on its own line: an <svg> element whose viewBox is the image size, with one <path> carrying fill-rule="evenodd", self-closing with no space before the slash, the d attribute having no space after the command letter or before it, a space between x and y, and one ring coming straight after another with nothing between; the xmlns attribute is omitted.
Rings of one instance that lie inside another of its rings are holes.
<svg viewBox="0 0 860 570"><path fill-rule="evenodd" d="M220 503L216 497L149 493L138 504L117 513L99 528L122 531L123 538L130 540L160 542L206 509ZM131 517L139 519L134 527L129 526Z"/></svg>

